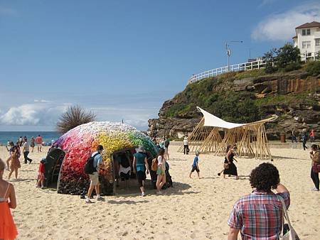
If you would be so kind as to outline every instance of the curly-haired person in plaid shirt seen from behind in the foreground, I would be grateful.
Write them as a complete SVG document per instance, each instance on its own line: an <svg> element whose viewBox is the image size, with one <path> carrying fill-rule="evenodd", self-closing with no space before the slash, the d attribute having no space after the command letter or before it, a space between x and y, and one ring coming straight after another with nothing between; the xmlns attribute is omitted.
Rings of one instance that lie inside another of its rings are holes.
<svg viewBox="0 0 320 240"><path fill-rule="evenodd" d="M250 185L255 190L235 202L228 219L228 240L238 239L239 230L242 239L279 239L283 224L279 196L287 208L290 204L289 192L279 182L279 172L271 163L262 163L252 170Z"/></svg>

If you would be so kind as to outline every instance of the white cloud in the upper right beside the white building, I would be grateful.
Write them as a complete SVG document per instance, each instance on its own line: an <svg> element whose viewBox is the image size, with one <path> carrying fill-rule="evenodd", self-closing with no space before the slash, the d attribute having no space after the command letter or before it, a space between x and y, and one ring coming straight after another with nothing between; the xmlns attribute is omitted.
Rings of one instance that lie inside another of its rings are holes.
<svg viewBox="0 0 320 240"><path fill-rule="evenodd" d="M320 21L320 3L311 1L284 13L276 13L260 21L252 31L254 40L287 41L295 35L295 28L311 21Z"/></svg>

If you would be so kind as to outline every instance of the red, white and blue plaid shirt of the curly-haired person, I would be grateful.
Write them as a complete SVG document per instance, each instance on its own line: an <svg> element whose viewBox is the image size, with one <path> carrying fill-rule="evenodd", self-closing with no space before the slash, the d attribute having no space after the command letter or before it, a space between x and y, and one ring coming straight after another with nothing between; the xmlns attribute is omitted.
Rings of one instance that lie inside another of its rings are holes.
<svg viewBox="0 0 320 240"><path fill-rule="evenodd" d="M258 192L241 197L235 202L228 219L228 225L240 229L242 239L279 239L282 228L282 203L289 207L289 192Z"/></svg>

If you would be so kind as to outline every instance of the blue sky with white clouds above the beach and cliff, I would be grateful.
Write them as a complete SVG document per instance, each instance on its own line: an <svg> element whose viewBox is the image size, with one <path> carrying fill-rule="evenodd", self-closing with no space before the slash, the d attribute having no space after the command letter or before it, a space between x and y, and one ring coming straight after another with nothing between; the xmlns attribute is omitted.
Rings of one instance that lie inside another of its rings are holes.
<svg viewBox="0 0 320 240"><path fill-rule="evenodd" d="M2 1L0 131L51 131L80 104L147 129L194 73L263 55L319 1Z"/></svg>

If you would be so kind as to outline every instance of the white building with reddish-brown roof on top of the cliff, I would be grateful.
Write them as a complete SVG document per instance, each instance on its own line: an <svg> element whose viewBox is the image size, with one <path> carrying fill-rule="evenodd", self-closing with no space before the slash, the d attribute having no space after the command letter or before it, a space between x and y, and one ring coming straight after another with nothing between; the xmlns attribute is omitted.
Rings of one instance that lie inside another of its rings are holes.
<svg viewBox="0 0 320 240"><path fill-rule="evenodd" d="M301 60L314 59L320 51L320 23L313 21L296 28L297 36L293 37L294 46L300 50Z"/></svg>

